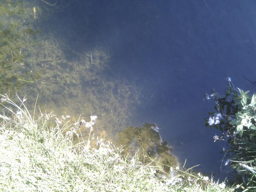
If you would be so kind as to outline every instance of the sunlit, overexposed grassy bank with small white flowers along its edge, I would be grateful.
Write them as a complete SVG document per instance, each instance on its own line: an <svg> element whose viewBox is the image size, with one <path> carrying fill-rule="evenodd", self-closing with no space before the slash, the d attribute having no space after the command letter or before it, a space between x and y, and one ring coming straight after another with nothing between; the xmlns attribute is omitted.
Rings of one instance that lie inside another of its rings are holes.
<svg viewBox="0 0 256 192"><path fill-rule="evenodd" d="M82 126L92 129L96 116L71 123L41 113L35 120L25 98L17 105L1 96L0 191L227 191L189 170L172 168L157 177L160 166L121 157L121 148L103 140L91 148L90 136L74 144L72 136Z"/></svg>

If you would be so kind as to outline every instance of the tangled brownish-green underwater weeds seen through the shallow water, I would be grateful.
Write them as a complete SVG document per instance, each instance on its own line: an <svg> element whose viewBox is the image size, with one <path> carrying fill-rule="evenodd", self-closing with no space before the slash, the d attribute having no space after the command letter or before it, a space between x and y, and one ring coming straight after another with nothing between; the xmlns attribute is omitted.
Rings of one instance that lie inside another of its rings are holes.
<svg viewBox="0 0 256 192"><path fill-rule="evenodd" d="M98 127L106 137L128 125L133 105L139 103L139 89L112 74L107 49L95 45L76 52L60 34L55 37L45 30L41 20L57 12L58 6L7 0L0 10L3 93L13 99L16 94L31 100L38 95L40 110L62 111L72 117L97 114Z"/></svg>

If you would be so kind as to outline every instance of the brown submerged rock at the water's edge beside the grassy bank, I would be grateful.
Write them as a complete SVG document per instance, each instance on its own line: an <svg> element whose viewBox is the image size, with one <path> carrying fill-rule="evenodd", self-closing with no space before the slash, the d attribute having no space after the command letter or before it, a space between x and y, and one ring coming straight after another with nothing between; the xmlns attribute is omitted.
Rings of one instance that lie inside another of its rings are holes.
<svg viewBox="0 0 256 192"><path fill-rule="evenodd" d="M156 124L143 124L143 127L127 127L119 132L118 144L123 145L123 154L127 157L139 155L142 162L153 159L163 165L169 172L169 166L177 167L178 159L172 154L173 148L165 142L159 134Z"/></svg>

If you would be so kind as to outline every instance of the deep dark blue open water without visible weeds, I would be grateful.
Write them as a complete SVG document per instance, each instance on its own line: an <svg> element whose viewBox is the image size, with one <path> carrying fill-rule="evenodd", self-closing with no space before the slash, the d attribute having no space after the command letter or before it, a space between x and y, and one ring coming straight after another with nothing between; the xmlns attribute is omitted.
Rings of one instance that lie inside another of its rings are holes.
<svg viewBox="0 0 256 192"><path fill-rule="evenodd" d="M226 144L214 143L219 132L204 126L214 102L203 99L212 89L225 93L226 74L235 87L253 90L242 75L256 80L256 1L61 1L59 6L63 10L48 27L75 51L108 48L110 74L141 89L133 125L156 123L187 167L200 164L196 170L225 178L219 152Z"/></svg>

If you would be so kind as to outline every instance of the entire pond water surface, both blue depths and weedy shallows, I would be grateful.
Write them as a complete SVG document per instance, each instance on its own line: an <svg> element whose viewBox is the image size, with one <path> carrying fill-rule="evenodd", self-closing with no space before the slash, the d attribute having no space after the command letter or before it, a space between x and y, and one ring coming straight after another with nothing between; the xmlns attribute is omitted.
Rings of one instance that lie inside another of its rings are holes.
<svg viewBox="0 0 256 192"><path fill-rule="evenodd" d="M31 102L39 94L41 109L74 119L96 114L101 136L119 142L128 125L155 123L181 163L200 164L195 170L217 179L228 175L219 153L226 144L214 143L219 132L204 125L215 105L204 95L224 94L226 74L235 87L253 90L243 76L256 80L255 1L2 0L0 6L7 10L0 23L4 93Z"/></svg>

